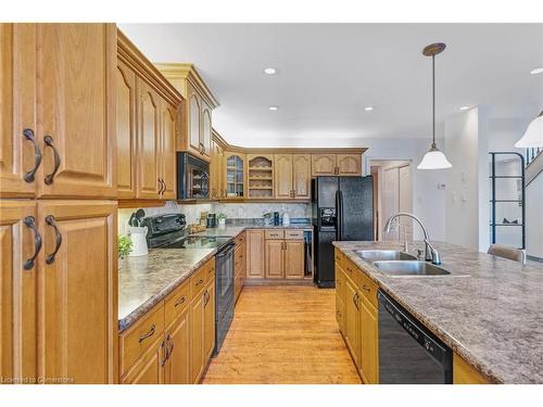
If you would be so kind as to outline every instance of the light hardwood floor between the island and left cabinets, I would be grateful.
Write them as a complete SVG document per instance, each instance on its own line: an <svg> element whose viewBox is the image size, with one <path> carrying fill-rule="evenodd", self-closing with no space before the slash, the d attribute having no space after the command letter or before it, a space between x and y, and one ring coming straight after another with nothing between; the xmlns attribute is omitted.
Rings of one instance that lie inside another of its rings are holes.
<svg viewBox="0 0 543 407"><path fill-rule="evenodd" d="M244 287L204 384L361 383L338 323L333 290Z"/></svg>

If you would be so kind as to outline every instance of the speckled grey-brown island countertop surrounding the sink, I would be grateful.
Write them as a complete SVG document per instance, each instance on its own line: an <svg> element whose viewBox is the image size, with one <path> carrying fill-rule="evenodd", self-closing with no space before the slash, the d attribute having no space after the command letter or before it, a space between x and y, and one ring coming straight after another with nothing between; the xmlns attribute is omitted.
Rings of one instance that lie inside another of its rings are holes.
<svg viewBox="0 0 543 407"><path fill-rule="evenodd" d="M543 383L543 267L435 242L452 276L387 277L356 251L397 242L333 244L490 381Z"/></svg>

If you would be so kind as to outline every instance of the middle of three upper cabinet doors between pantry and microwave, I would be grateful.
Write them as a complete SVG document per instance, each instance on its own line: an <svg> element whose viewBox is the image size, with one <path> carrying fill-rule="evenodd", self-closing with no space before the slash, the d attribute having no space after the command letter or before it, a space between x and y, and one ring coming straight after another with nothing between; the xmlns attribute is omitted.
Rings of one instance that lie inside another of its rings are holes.
<svg viewBox="0 0 543 407"><path fill-rule="evenodd" d="M159 94L138 78L138 198L159 199L160 100Z"/></svg>

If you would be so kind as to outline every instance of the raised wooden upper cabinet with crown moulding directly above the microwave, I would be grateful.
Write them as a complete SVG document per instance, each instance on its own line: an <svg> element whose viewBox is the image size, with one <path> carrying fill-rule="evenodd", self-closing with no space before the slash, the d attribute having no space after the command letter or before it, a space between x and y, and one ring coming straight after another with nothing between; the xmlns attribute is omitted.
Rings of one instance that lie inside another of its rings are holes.
<svg viewBox="0 0 543 407"><path fill-rule="evenodd" d="M159 71L185 98L181 104L177 150L210 162L212 157L212 111L218 102L192 64L156 64Z"/></svg>

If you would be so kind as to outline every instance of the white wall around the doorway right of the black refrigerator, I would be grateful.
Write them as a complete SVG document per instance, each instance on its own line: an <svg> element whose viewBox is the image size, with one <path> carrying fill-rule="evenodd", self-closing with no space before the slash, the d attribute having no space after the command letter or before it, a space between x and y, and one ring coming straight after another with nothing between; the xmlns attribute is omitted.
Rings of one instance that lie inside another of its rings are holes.
<svg viewBox="0 0 543 407"><path fill-rule="evenodd" d="M430 135L431 137L431 135ZM430 149L431 139L364 139L358 145L365 145L365 174L369 174L369 163L374 160L408 160L412 162L413 213L420 217L428 229L431 240L445 239L445 191L440 185L445 183L446 170L422 170L417 165ZM443 140L438 139L438 145ZM420 240L420 228L414 227L414 239Z"/></svg>

